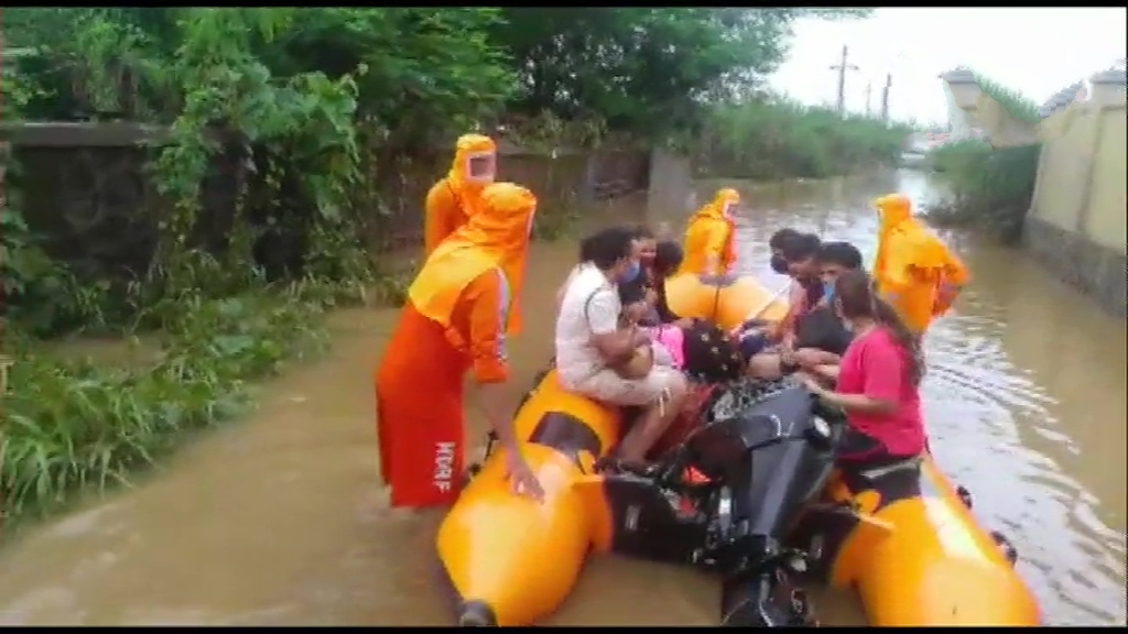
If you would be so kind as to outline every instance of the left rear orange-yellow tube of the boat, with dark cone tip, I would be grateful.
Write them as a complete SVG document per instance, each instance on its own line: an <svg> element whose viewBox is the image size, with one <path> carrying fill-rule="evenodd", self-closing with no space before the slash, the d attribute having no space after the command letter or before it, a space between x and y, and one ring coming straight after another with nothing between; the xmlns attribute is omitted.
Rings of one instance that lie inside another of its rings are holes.
<svg viewBox="0 0 1128 634"><path fill-rule="evenodd" d="M591 508L601 487L578 485L599 479L592 467L618 442L619 412L564 391L554 370L515 424L545 499L511 493L501 449L455 503L438 546L461 601L460 625L531 625L564 602L592 546L609 547L608 530L597 526L607 514Z"/></svg>

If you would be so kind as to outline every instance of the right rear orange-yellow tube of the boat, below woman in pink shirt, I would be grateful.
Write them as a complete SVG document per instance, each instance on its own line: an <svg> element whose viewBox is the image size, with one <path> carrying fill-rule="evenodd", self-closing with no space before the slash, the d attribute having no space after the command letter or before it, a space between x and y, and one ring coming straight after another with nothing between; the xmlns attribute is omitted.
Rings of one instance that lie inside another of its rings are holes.
<svg viewBox="0 0 1128 634"><path fill-rule="evenodd" d="M830 582L857 589L870 625L1041 625L1038 599L1008 558L1008 545L982 528L932 456L919 472L890 473L855 488L839 476L827 494L863 521L814 528L820 548L831 552Z"/></svg>

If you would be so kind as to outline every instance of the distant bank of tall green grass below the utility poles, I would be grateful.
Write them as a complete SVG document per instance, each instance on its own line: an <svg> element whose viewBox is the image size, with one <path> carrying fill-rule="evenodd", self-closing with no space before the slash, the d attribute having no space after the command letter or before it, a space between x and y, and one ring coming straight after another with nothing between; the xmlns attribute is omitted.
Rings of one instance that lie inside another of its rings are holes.
<svg viewBox="0 0 1128 634"><path fill-rule="evenodd" d="M911 126L785 99L719 106L698 140L698 170L715 177L823 178L895 164Z"/></svg>

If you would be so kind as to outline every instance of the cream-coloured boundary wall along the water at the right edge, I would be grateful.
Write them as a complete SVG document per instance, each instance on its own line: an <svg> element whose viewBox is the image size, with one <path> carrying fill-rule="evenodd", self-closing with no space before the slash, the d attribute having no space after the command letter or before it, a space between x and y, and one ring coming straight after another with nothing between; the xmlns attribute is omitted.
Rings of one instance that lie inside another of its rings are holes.
<svg viewBox="0 0 1128 634"><path fill-rule="evenodd" d="M1076 117L1042 144L1024 228L1028 248L1055 274L1126 316L1123 85L1073 107Z"/></svg>

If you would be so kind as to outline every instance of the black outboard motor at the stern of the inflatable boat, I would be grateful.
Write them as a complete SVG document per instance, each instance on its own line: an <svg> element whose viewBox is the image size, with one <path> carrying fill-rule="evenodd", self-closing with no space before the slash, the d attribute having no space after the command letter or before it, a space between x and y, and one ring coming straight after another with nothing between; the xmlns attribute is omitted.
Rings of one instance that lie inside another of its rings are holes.
<svg viewBox="0 0 1128 634"><path fill-rule="evenodd" d="M830 476L839 422L793 382L726 386L659 465L606 476L613 548L719 571L722 625L812 625L790 579L805 554L782 541ZM689 469L708 482L689 482Z"/></svg>

